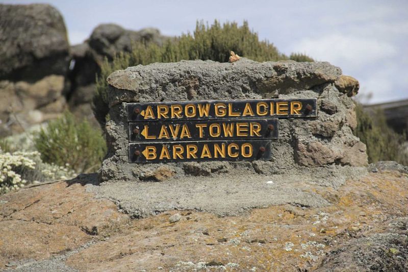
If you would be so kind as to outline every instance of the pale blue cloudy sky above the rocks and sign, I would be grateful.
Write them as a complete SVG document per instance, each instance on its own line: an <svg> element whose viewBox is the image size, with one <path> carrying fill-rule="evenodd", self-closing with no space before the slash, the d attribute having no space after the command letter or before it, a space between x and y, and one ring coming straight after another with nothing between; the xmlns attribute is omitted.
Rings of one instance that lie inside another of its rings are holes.
<svg viewBox="0 0 408 272"><path fill-rule="evenodd" d="M36 1L1 1L9 4ZM280 52L305 53L342 68L360 82L359 100L376 104L408 99L408 1L45 0L63 15L71 44L100 23L126 29L158 28L174 36L197 20L247 20Z"/></svg>

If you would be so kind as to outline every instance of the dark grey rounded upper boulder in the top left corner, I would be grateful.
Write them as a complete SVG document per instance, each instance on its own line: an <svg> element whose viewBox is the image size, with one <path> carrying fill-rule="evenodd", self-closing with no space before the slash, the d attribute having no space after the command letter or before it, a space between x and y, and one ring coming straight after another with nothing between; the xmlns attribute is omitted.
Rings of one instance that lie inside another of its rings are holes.
<svg viewBox="0 0 408 272"><path fill-rule="evenodd" d="M0 5L0 79L65 75L69 44L64 20L52 6Z"/></svg>

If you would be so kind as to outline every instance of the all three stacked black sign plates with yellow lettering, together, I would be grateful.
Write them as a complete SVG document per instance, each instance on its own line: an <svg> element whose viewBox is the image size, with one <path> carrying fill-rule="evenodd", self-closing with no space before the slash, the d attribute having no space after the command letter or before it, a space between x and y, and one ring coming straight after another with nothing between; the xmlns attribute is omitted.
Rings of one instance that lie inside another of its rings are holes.
<svg viewBox="0 0 408 272"><path fill-rule="evenodd" d="M279 118L317 116L316 99L127 103L136 163L270 160Z"/></svg>

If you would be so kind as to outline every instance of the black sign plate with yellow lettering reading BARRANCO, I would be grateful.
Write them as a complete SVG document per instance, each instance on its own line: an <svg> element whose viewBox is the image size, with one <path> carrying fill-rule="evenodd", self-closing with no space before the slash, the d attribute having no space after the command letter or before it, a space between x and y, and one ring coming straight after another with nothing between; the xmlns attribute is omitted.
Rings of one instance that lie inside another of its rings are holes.
<svg viewBox="0 0 408 272"><path fill-rule="evenodd" d="M130 143L129 160L137 163L270 160L270 140Z"/></svg>

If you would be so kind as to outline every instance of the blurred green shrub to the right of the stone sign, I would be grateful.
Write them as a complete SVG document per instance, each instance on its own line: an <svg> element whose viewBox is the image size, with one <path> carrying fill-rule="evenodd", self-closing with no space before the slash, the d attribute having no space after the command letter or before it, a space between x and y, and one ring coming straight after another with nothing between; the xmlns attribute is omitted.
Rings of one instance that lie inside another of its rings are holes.
<svg viewBox="0 0 408 272"><path fill-rule="evenodd" d="M405 135L393 131L381 110L365 112L361 104L355 107L358 125L354 135L367 145L369 163L396 161L408 165L408 154L403 149Z"/></svg>

